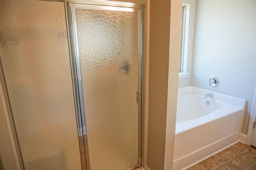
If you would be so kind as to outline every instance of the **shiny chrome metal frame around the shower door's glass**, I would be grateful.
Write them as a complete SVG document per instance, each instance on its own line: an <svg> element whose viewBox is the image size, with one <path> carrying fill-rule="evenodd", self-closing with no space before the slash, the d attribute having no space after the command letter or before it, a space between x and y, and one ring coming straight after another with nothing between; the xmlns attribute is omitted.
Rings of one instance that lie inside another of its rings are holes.
<svg viewBox="0 0 256 170"><path fill-rule="evenodd" d="M138 14L138 164L126 170L133 170L142 166L142 8L146 4L117 1L65 2L66 22L68 29L68 43L70 48L70 63L73 77L74 99L76 105L76 119L80 145L80 155L83 170L90 170L88 140L86 132L86 118L82 89L82 76L80 67L78 30L76 25L76 9L108 10L120 12L136 12Z"/></svg>

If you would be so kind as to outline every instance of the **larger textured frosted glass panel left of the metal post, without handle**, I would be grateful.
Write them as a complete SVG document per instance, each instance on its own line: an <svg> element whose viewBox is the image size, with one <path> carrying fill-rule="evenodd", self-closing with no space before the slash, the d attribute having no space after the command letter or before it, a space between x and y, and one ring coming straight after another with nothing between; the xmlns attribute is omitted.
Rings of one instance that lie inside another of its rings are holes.
<svg viewBox="0 0 256 170"><path fill-rule="evenodd" d="M79 170L63 2L0 1L0 57L26 170Z"/></svg>

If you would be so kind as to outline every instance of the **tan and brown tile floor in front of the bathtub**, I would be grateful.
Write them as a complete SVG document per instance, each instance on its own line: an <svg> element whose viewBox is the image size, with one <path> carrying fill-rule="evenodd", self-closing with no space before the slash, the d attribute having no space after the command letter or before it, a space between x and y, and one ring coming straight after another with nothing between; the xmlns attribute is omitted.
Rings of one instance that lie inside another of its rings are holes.
<svg viewBox="0 0 256 170"><path fill-rule="evenodd" d="M238 142L188 170L256 170L256 148Z"/></svg>

